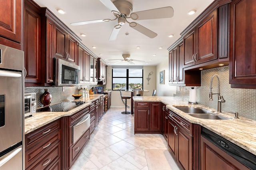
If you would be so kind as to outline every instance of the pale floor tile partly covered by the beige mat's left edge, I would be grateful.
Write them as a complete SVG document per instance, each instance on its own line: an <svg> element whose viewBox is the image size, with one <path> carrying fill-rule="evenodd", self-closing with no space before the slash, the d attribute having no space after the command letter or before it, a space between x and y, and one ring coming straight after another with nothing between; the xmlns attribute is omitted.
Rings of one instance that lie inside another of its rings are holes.
<svg viewBox="0 0 256 170"><path fill-rule="evenodd" d="M128 152L127 154L122 156L122 158L128 160L129 162L131 162L140 169L144 168L144 166L147 166L145 152L139 148L136 148L131 152Z"/></svg>

